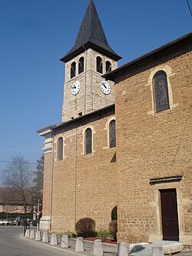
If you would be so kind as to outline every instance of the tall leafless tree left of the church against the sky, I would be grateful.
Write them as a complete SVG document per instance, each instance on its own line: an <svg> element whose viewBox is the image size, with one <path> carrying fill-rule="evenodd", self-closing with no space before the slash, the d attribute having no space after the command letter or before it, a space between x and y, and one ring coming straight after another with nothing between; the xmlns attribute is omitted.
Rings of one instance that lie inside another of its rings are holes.
<svg viewBox="0 0 192 256"><path fill-rule="evenodd" d="M3 184L11 188L12 201L23 204L27 210L27 202L31 201L30 166L22 155L12 158L12 163L4 169Z"/></svg>

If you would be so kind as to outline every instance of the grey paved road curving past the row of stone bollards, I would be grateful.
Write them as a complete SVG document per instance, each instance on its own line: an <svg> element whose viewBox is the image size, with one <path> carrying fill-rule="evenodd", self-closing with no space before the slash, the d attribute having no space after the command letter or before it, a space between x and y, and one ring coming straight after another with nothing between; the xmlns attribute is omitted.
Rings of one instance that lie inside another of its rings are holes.
<svg viewBox="0 0 192 256"><path fill-rule="evenodd" d="M23 228L0 226L0 256L78 256L23 237ZM85 254L86 255L86 254Z"/></svg>

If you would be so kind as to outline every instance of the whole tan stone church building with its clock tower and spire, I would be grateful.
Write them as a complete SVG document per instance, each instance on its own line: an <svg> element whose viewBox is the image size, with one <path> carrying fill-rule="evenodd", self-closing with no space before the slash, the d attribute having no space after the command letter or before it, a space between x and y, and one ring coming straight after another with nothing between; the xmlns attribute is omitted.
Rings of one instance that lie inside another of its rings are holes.
<svg viewBox="0 0 192 256"><path fill-rule="evenodd" d="M63 58L62 121L45 137L41 230L84 217L118 241L192 244L192 34L118 68L93 0Z"/></svg>

